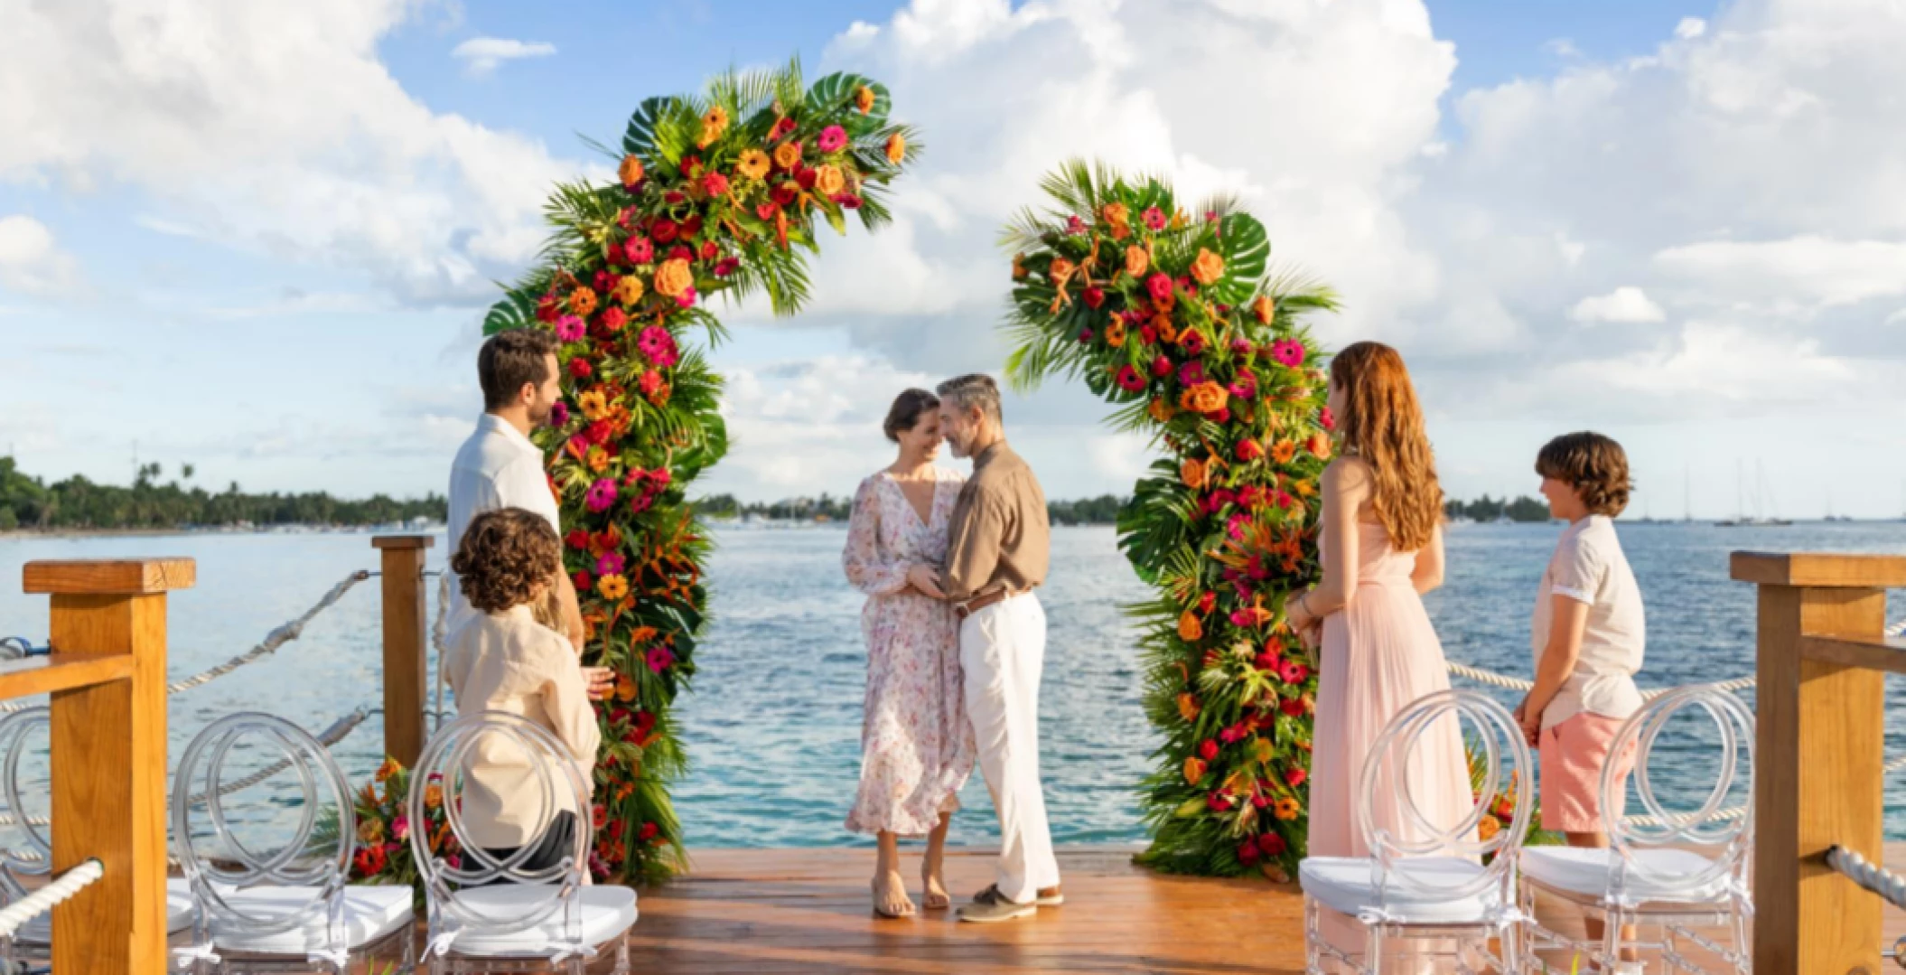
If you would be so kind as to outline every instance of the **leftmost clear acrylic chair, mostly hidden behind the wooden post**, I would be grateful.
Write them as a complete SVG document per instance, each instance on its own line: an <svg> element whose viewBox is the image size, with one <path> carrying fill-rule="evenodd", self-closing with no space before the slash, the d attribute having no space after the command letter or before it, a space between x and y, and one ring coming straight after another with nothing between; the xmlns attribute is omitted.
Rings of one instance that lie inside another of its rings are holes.
<svg viewBox="0 0 1906 975"><path fill-rule="evenodd" d="M0 822L0 904L11 904L51 874L51 714L42 704L0 719L0 792L6 796L6 819ZM166 931L177 933L193 925L198 908L183 880L166 882ZM0 939L0 971L15 967L51 965L51 912L27 922L10 939Z"/></svg>

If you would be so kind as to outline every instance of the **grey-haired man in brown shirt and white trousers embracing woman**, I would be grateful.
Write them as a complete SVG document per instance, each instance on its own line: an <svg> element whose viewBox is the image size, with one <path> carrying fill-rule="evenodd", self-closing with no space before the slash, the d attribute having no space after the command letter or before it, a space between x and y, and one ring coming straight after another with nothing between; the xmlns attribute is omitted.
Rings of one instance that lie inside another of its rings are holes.
<svg viewBox="0 0 1906 975"><path fill-rule="evenodd" d="M1052 857L1046 799L1039 786L1039 670L1046 614L1033 590L1046 580L1046 496L1033 469L1006 446L999 385L989 376L940 384L940 429L972 479L953 508L947 567L940 578L961 618L966 716L980 744L980 771L999 811L999 866L991 887L959 910L963 922L1008 922L1064 902Z"/></svg>

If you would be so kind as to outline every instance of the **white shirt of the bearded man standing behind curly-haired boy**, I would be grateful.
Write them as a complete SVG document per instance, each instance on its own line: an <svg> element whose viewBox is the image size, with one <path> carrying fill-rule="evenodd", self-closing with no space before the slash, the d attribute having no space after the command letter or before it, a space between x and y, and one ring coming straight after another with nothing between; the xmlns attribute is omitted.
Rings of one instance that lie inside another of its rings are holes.
<svg viewBox="0 0 1906 975"><path fill-rule="evenodd" d="M530 443L517 427L496 414L482 414L476 431L463 441L457 460L450 464L450 529L446 540L450 555L463 542L463 532L471 519L497 508L522 508L549 519L549 527L562 534L562 513L557 496L549 490L549 477L543 473L543 452ZM463 599L463 586L450 576L450 632L478 616Z"/></svg>

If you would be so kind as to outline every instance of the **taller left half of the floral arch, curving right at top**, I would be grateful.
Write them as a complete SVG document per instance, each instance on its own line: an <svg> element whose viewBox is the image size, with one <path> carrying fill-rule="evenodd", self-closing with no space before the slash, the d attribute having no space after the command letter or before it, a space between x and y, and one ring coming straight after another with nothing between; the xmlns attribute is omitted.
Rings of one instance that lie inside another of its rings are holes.
<svg viewBox="0 0 1906 975"><path fill-rule="evenodd" d="M537 433L562 506L566 570L585 662L614 668L598 706L600 878L661 880L682 864L669 782L686 756L669 721L696 672L707 614L705 530L686 487L722 458L720 378L690 342L722 338L709 298L808 296L818 223L890 219L886 189L921 145L888 118L886 88L858 74L804 86L799 65L722 74L701 95L656 97L629 118L608 185L558 185L545 261L484 319L486 332L547 328L562 401Z"/></svg>

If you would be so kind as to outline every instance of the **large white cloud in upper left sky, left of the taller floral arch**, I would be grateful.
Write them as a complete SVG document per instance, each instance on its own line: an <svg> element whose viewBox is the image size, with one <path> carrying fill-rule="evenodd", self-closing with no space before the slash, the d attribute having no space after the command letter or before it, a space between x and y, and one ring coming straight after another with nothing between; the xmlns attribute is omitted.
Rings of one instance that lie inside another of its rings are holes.
<svg viewBox="0 0 1906 975"><path fill-rule="evenodd" d="M417 10L0 0L0 183L130 185L149 227L486 298L581 166L404 92L377 44Z"/></svg>

